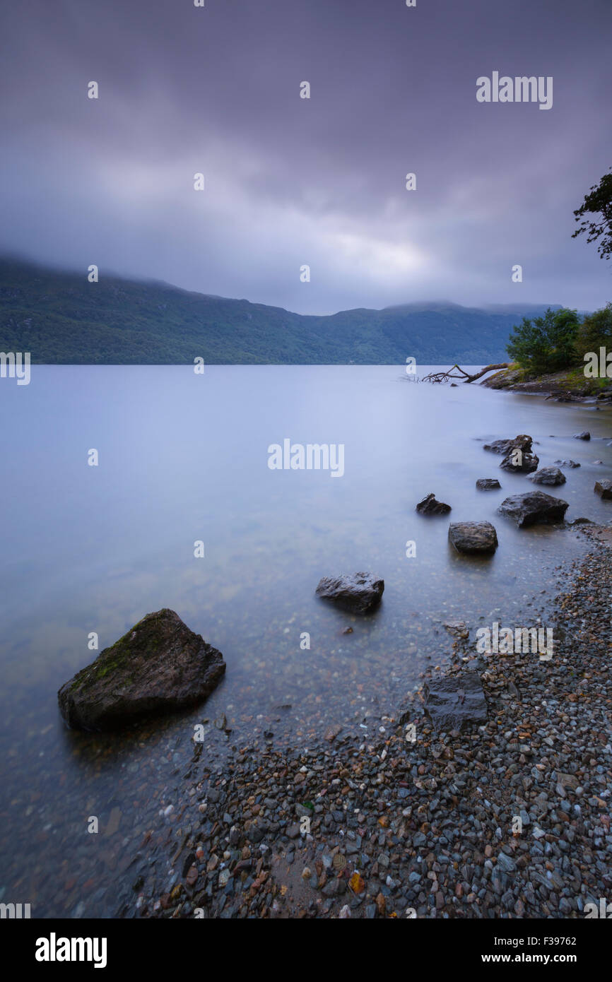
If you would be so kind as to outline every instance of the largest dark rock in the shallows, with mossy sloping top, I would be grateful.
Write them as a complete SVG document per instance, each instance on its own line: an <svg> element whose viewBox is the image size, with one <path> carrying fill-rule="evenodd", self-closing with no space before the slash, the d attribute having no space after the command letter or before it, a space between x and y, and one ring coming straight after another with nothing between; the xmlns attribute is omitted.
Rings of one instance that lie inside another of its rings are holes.
<svg viewBox="0 0 612 982"><path fill-rule="evenodd" d="M174 611L147 614L91 665L62 685L58 701L70 727L119 730L142 716L200 702L225 672L223 655Z"/></svg>

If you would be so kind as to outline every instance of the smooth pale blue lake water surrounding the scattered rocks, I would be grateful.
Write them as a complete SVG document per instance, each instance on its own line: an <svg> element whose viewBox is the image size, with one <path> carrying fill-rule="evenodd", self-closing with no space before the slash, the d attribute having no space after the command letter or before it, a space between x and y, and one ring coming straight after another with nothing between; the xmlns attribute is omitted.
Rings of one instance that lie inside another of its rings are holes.
<svg viewBox="0 0 612 982"><path fill-rule="evenodd" d="M529 433L540 466L579 462L545 490L567 518L612 518L592 491L612 466L594 439L612 439L609 410L409 383L402 367L33 366L28 386L0 380L0 408L0 900L34 917L131 913L144 834L160 857L177 835L160 812L180 814L195 723L218 769L264 733L305 746L332 723L359 733L448 661L444 620L530 625L530 597L554 593L555 568L584 543L496 515L532 485L499 469L487 439ZM584 429L589 443L572 439ZM285 438L344 444L344 475L269 469ZM475 490L493 476L501 491ZM417 515L430 491L450 517ZM495 556L454 553L449 518L493 521ZM375 615L314 596L320 576L362 570L385 580ZM223 652L224 682L194 712L128 735L66 730L56 693L95 656L88 633L101 650L162 607ZM230 735L214 726L222 714Z"/></svg>

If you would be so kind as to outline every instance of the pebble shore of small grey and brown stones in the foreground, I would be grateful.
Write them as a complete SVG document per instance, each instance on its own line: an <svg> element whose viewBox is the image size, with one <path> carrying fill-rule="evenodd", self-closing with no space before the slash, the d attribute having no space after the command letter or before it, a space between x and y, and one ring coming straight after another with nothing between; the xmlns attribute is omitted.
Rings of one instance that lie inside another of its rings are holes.
<svg viewBox="0 0 612 982"><path fill-rule="evenodd" d="M196 763L172 888L156 895L143 882L124 915L584 916L612 887L612 688L600 662L612 652L612 528L580 534L586 553L560 569L550 662L453 642L441 674L477 669L483 726L440 736L417 690L373 739L246 746L221 767Z"/></svg>

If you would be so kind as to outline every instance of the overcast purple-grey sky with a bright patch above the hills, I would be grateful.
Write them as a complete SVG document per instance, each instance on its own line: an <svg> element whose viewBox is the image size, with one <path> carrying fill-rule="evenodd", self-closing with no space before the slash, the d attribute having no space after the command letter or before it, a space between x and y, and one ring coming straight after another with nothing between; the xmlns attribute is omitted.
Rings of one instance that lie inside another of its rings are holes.
<svg viewBox="0 0 612 982"><path fill-rule="evenodd" d="M610 0L4 7L3 251L304 313L612 299L571 238L612 165ZM478 103L493 71L552 108Z"/></svg>

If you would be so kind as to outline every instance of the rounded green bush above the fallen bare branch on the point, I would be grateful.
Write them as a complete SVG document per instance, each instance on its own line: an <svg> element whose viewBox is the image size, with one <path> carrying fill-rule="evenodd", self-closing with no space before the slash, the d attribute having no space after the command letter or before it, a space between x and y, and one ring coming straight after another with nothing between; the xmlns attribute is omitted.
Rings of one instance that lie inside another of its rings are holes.
<svg viewBox="0 0 612 982"><path fill-rule="evenodd" d="M513 329L506 351L528 371L559 371L578 359L576 339L581 325L576 310L546 310L543 317L524 317Z"/></svg>

